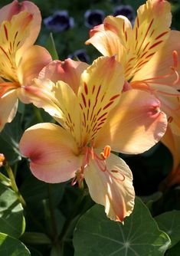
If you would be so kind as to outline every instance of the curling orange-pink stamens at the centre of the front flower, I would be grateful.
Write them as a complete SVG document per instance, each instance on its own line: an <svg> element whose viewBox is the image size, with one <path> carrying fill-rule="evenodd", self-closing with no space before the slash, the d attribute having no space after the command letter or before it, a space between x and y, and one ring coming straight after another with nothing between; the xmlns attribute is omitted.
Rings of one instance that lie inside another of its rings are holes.
<svg viewBox="0 0 180 256"><path fill-rule="evenodd" d="M85 154L83 158L83 164L80 166L79 169L77 169L77 172L75 173L74 179L72 179L71 185L75 185L78 183L79 188L83 187L83 179L84 179L84 170L87 166L89 166L90 158L96 162L97 168L100 169L101 172L108 172L109 175L113 179L117 179L121 182L124 181L125 176L119 172L117 169L108 169L106 166L106 159L110 156L110 146L105 146L103 149L103 152L100 153L100 156L97 155L97 153L94 152L93 146L86 146L84 149ZM115 174L119 173L122 176L121 178L116 178Z"/></svg>

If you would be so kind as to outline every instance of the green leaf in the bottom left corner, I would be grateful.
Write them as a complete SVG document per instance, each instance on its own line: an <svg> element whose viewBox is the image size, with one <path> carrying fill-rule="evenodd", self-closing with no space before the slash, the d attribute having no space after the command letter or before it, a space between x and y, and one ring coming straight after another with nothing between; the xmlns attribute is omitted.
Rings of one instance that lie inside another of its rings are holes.
<svg viewBox="0 0 180 256"><path fill-rule="evenodd" d="M30 256L28 248L15 238L0 233L0 255L3 256Z"/></svg>

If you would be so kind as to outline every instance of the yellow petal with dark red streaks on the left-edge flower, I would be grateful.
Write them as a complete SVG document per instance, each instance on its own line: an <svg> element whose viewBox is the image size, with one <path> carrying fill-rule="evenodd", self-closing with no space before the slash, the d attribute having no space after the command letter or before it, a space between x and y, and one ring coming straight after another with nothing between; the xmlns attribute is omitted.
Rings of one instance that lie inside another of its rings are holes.
<svg viewBox="0 0 180 256"><path fill-rule="evenodd" d="M0 26L0 57L3 60L0 62L0 76L5 79L18 81L16 68L21 54L16 56L16 53L28 38L31 20L31 14L21 11Z"/></svg>

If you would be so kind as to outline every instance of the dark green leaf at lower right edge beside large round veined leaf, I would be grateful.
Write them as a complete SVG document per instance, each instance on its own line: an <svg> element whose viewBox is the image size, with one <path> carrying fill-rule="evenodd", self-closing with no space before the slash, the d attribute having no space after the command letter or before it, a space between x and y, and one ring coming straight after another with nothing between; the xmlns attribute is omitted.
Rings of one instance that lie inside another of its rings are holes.
<svg viewBox="0 0 180 256"><path fill-rule="evenodd" d="M159 228L171 238L171 247L180 241L180 211L162 213L155 217L155 221L158 222Z"/></svg>

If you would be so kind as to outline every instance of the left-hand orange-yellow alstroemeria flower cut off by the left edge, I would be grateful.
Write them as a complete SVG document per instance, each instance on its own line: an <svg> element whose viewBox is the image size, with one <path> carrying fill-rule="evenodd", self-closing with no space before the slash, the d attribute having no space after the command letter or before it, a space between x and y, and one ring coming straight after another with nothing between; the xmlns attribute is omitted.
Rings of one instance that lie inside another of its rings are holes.
<svg viewBox="0 0 180 256"><path fill-rule="evenodd" d="M33 45L40 28L41 14L32 2L15 0L0 9L0 130L15 117L22 86L51 61L44 48Z"/></svg>

